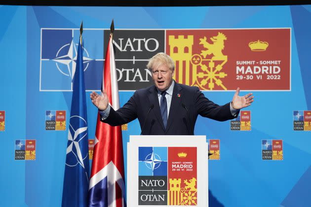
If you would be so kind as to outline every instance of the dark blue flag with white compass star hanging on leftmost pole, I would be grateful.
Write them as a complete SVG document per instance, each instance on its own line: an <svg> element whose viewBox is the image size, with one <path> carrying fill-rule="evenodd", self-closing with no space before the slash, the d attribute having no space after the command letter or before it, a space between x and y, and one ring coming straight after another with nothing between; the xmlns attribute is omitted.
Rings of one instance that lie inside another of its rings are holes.
<svg viewBox="0 0 311 207"><path fill-rule="evenodd" d="M62 207L86 207L89 184L88 135L83 73L83 50L78 45L76 71L73 72Z"/></svg>

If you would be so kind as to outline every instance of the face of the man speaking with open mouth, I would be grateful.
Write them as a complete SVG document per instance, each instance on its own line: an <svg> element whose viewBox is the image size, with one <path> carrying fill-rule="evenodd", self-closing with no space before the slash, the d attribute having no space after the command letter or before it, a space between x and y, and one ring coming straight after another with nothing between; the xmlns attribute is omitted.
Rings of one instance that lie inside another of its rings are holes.
<svg viewBox="0 0 311 207"><path fill-rule="evenodd" d="M165 64L151 70L152 79L155 81L156 88L159 91L165 91L170 87L173 81L174 71L170 70Z"/></svg>

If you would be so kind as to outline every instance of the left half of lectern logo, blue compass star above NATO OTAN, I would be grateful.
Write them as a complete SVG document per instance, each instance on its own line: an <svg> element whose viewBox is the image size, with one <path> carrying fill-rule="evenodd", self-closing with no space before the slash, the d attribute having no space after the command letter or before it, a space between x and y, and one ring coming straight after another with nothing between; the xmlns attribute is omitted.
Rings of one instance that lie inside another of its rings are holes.
<svg viewBox="0 0 311 207"><path fill-rule="evenodd" d="M167 205L167 147L139 147L138 205Z"/></svg>

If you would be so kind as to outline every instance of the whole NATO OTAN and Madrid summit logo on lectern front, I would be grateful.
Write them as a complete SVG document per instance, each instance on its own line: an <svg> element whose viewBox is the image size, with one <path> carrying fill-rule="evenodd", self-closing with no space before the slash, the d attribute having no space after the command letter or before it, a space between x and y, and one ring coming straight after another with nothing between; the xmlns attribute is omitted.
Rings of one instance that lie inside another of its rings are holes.
<svg viewBox="0 0 311 207"><path fill-rule="evenodd" d="M196 147L139 147L138 205L197 205Z"/></svg>

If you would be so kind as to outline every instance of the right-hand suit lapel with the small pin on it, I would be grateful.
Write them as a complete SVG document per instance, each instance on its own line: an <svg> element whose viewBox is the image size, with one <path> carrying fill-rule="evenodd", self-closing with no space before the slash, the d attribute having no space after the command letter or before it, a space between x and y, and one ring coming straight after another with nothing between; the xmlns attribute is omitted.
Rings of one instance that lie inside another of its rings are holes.
<svg viewBox="0 0 311 207"><path fill-rule="evenodd" d="M173 94L172 94L171 106L170 106L169 114L168 114L166 132L168 131L168 129L172 125L173 120L175 118L175 114L177 113L179 105L181 103L181 99L182 99L181 90L182 90L182 88L179 86L178 83L175 82Z"/></svg>

